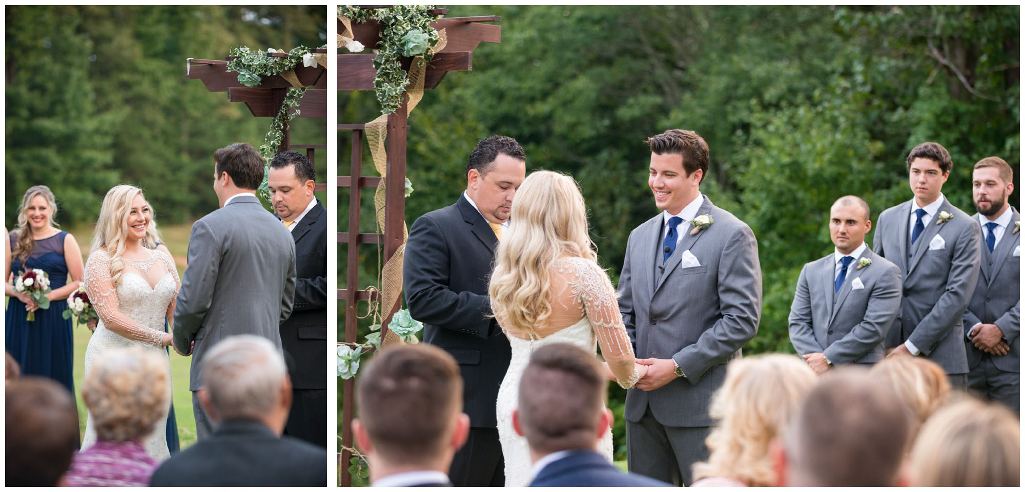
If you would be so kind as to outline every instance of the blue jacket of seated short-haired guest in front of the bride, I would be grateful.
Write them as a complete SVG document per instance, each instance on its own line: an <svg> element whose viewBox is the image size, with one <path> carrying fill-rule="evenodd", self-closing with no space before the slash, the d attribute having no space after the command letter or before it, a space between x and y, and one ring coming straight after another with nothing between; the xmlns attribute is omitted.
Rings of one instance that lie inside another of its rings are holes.
<svg viewBox="0 0 1025 492"><path fill-rule="evenodd" d="M671 487L669 484L616 469L593 451L578 451L541 468L530 487Z"/></svg>

